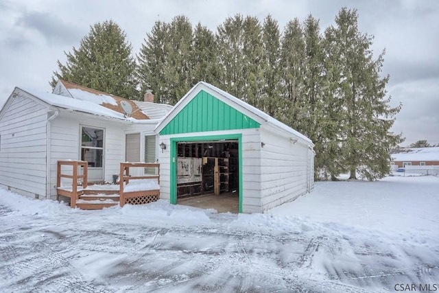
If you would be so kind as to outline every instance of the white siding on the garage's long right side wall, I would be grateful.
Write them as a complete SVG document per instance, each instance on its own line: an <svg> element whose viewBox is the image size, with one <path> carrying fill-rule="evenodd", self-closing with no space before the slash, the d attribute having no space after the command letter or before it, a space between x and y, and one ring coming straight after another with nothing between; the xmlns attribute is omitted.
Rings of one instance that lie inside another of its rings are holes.
<svg viewBox="0 0 439 293"><path fill-rule="evenodd" d="M308 145L261 128L262 210L306 194L309 184Z"/></svg>

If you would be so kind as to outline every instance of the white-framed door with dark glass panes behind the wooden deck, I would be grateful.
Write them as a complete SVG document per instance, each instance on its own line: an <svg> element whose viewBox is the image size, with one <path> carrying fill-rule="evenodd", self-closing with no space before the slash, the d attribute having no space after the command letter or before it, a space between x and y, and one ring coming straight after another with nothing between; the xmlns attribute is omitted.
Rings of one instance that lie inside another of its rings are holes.
<svg viewBox="0 0 439 293"><path fill-rule="evenodd" d="M81 160L88 162L88 181L104 180L104 129L81 126Z"/></svg>

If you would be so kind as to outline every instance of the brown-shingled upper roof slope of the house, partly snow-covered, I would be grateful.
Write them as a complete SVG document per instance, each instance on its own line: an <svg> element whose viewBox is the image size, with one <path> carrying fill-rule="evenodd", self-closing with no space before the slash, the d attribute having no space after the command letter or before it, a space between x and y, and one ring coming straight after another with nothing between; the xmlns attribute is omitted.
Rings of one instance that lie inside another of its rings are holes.
<svg viewBox="0 0 439 293"><path fill-rule="evenodd" d="M59 80L57 86L59 86L59 84L62 84L62 86L64 86L69 93L70 97L73 97L74 99L81 99L82 101L99 104L100 106L114 110L122 115L124 112L121 102L126 101L132 107L130 117L137 120L150 119L150 117L148 117L143 110L130 99L123 99L122 97L117 97L116 95L111 95L95 89L89 89L86 86L80 86L79 84L74 84L73 82L67 82L65 80ZM60 91L60 94L66 95L65 91Z"/></svg>

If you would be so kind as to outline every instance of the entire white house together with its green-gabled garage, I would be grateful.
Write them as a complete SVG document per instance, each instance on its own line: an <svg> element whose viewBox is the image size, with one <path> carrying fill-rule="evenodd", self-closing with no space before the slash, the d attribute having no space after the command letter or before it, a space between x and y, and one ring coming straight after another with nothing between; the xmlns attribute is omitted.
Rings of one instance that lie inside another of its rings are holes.
<svg viewBox="0 0 439 293"><path fill-rule="evenodd" d="M174 107L151 97L64 81L54 93L15 88L0 111L0 187L54 199L57 163L71 160L95 182L112 182L121 162L158 161L161 198L227 197L242 213L313 189L312 141L261 110L205 82Z"/></svg>

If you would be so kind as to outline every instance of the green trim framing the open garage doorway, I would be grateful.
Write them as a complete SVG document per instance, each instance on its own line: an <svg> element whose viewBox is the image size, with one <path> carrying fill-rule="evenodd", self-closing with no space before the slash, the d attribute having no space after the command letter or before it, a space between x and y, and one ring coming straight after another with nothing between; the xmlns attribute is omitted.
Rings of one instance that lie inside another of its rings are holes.
<svg viewBox="0 0 439 293"><path fill-rule="evenodd" d="M239 182L239 213L242 213L242 134L223 134L223 135L206 135L201 137L173 137L169 141L171 143L171 176L170 176L170 199L171 204L177 204L177 143L182 141L223 141L223 140L237 140L238 141L238 182Z"/></svg>

